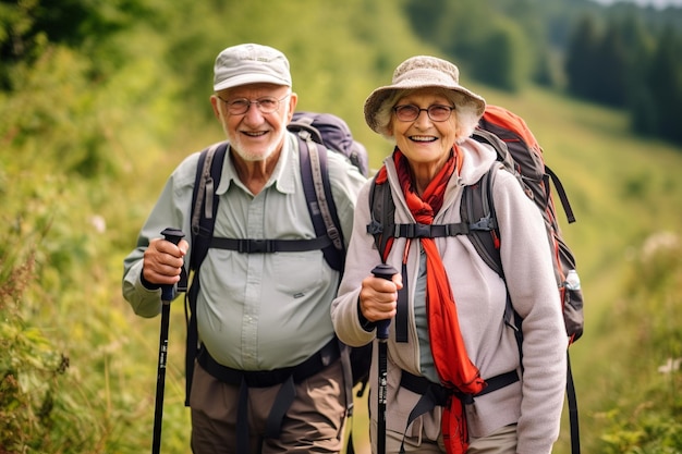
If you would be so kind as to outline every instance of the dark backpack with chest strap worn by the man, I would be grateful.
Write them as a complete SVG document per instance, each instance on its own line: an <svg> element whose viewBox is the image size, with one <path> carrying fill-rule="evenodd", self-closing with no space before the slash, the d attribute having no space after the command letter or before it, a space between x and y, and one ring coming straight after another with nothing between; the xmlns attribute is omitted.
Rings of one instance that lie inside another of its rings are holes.
<svg viewBox="0 0 682 454"><path fill-rule="evenodd" d="M194 359L198 353L196 326L196 299L199 292L198 273L202 261L210 247L227 248L241 253L273 253L321 249L325 260L337 271L343 272L345 248L340 221L331 194L327 170L327 149L345 156L358 171L367 176L367 150L353 139L348 124L331 113L295 112L288 130L296 134L300 148L301 176L310 220L316 237L312 240L252 240L218 238L212 236L219 197L215 189L220 183L222 163L228 149L220 142L204 149L198 159L192 196L192 251L190 269L194 271L192 285L185 297L187 339L185 351L185 406L190 405L190 390ZM318 146L321 145L321 146ZM352 388L366 383L369 375L372 344L349 347L340 343L344 361L349 416L352 415Z"/></svg>

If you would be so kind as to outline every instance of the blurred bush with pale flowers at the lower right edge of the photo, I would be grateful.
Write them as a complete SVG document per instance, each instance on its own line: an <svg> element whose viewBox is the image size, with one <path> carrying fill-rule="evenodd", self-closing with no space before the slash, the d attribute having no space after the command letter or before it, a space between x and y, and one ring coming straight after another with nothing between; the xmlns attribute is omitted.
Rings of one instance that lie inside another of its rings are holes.
<svg viewBox="0 0 682 454"><path fill-rule="evenodd" d="M631 262L616 322L635 335L625 347L637 367L625 367L636 394L618 396L597 414L605 421L599 452L665 454L682 451L682 243L651 235Z"/></svg>

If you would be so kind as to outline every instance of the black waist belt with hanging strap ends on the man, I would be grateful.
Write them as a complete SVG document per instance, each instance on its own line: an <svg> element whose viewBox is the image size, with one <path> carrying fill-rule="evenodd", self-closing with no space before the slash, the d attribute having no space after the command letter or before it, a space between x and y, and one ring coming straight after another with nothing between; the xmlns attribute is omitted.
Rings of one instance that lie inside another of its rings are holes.
<svg viewBox="0 0 682 454"><path fill-rule="evenodd" d="M282 420L296 397L294 383L321 372L327 366L341 357L339 341L332 338L317 353L293 367L272 370L239 370L218 364L202 346L197 363L214 378L240 388L236 418L236 453L248 454L248 389L282 386L277 393L266 421L264 438L277 439L281 432ZM263 442L263 441L261 441Z"/></svg>

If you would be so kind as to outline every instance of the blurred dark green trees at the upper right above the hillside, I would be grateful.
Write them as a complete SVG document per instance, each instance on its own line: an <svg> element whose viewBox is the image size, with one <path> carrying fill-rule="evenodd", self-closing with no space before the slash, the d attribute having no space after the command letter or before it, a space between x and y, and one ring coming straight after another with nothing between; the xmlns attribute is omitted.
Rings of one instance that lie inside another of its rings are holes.
<svg viewBox="0 0 682 454"><path fill-rule="evenodd" d="M628 109L636 133L682 144L682 9L559 0L406 0L415 33L465 73L520 91L531 82ZM654 54L655 53L655 54Z"/></svg>

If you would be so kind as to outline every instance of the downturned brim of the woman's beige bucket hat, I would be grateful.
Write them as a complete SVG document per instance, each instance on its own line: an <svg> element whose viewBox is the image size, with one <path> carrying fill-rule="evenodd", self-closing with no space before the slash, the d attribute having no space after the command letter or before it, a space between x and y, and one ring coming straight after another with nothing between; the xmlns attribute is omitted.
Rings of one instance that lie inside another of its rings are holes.
<svg viewBox="0 0 682 454"><path fill-rule="evenodd" d="M424 84L421 81L412 82L404 81L398 84L379 87L372 91L372 94L365 100L365 122L367 125L378 134L383 134L382 127L377 122L377 112L383 105L383 102L391 98L395 91L405 91L421 88L441 88L448 91L452 91L460 98L455 101L456 109L471 109L478 118L480 118L486 109L486 101L475 93L460 86L460 85L446 85L446 84Z"/></svg>

